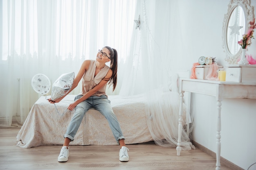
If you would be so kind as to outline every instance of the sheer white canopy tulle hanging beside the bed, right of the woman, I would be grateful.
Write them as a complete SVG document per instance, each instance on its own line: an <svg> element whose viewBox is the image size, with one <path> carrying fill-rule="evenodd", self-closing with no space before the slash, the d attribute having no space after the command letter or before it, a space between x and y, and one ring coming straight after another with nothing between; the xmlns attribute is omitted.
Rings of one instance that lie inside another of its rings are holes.
<svg viewBox="0 0 256 170"><path fill-rule="evenodd" d="M170 92L169 87L171 76L177 70L178 57L186 54L182 52L179 4L166 0L137 0L135 13L141 24L132 34L119 95L144 93L148 129L155 143L175 147L180 96ZM182 149L194 148L184 129L181 141Z"/></svg>

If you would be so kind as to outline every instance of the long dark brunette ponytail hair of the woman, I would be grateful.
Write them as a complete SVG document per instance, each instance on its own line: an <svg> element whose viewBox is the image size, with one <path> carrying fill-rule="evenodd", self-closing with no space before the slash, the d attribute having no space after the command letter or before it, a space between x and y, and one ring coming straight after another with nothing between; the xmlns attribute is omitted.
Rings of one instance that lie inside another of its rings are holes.
<svg viewBox="0 0 256 170"><path fill-rule="evenodd" d="M104 48L107 48L110 52L110 69L112 70L112 76L108 84L113 85L114 91L117 86L117 50L109 46L106 46Z"/></svg>

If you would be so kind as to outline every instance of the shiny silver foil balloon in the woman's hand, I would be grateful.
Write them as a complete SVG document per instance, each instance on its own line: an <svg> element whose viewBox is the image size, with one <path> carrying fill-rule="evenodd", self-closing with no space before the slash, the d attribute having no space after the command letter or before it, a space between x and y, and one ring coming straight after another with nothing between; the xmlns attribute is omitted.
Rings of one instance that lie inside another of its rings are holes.
<svg viewBox="0 0 256 170"><path fill-rule="evenodd" d="M70 91L73 81L74 81L75 73L70 72L66 74L62 74L52 85L52 100L60 98L67 94Z"/></svg>

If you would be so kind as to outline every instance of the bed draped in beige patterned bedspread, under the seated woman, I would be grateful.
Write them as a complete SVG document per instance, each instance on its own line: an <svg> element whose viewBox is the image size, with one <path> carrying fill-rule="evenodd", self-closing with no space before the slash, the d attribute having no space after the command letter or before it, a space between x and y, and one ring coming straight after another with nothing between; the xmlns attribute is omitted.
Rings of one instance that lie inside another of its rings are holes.
<svg viewBox="0 0 256 170"><path fill-rule="evenodd" d="M176 92L163 92L163 95L172 95L172 93ZM73 102L74 97L75 95L67 95L61 102L54 105L46 100L47 97L41 96L34 103L18 132L17 146L31 148L41 145L62 145L63 135L74 113L74 111L67 110L67 107ZM154 140L148 130L144 94L117 95L108 96L108 98L126 137L126 144ZM190 101L187 100L187 102ZM188 107L186 107L188 104L183 105L184 125L189 123L189 114L186 114L189 113ZM85 114L75 139L70 145L117 145L117 142L106 118L99 111L90 109Z"/></svg>

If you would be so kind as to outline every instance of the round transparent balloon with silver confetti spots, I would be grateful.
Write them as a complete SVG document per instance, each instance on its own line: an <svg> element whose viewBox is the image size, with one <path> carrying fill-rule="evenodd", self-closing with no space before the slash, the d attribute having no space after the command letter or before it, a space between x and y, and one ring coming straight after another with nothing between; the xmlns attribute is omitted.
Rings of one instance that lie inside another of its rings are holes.
<svg viewBox="0 0 256 170"><path fill-rule="evenodd" d="M47 94L51 88L51 82L44 74L36 74L31 80L31 85L38 94Z"/></svg>

